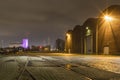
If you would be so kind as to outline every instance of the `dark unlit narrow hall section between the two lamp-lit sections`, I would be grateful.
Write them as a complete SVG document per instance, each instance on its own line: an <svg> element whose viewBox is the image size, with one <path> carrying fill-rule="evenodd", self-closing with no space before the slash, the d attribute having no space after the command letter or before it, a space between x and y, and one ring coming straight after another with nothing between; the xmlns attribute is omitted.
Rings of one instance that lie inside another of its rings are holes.
<svg viewBox="0 0 120 80"><path fill-rule="evenodd" d="M76 25L73 29L72 52L83 53L83 26Z"/></svg>

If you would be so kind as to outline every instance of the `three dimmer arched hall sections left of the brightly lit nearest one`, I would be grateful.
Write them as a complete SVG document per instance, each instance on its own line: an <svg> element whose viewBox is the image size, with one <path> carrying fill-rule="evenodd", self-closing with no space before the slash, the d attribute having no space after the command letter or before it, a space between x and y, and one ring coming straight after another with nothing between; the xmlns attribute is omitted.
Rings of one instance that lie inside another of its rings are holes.
<svg viewBox="0 0 120 80"><path fill-rule="evenodd" d="M82 26L76 25L73 30L68 30L66 33L67 52L70 49L72 53L95 53L96 23L96 18L89 18Z"/></svg>

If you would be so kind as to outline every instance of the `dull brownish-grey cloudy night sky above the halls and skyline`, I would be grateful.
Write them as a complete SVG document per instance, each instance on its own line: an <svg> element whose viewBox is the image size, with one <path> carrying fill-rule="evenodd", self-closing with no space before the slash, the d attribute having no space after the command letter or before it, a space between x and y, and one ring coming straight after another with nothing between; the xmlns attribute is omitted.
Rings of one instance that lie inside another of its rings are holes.
<svg viewBox="0 0 120 80"><path fill-rule="evenodd" d="M0 46L25 37L30 45L54 46L68 29L114 4L120 0L0 0Z"/></svg>

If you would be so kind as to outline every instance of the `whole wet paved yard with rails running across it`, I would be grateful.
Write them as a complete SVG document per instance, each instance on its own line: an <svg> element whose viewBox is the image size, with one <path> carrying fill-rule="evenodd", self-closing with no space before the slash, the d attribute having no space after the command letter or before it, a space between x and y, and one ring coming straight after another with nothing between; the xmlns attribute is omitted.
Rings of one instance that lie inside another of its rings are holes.
<svg viewBox="0 0 120 80"><path fill-rule="evenodd" d="M1 56L0 80L120 80L120 57L64 53Z"/></svg>

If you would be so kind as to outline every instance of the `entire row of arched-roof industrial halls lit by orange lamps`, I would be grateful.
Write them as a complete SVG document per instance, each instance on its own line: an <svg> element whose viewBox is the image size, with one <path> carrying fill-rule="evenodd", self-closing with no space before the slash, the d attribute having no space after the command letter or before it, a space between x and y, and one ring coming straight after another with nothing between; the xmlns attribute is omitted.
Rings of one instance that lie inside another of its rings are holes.
<svg viewBox="0 0 120 80"><path fill-rule="evenodd" d="M109 20L107 21L105 18ZM98 18L89 18L82 26L76 25L73 30L66 32L66 52L82 54L120 54L119 44L119 5L108 7Z"/></svg>

